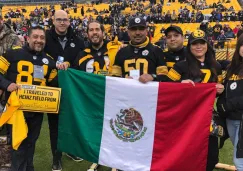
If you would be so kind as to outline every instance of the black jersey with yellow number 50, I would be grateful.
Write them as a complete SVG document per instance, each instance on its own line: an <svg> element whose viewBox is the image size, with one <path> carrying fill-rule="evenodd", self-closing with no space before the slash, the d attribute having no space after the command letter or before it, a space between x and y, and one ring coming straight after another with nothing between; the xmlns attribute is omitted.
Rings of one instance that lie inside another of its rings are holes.
<svg viewBox="0 0 243 171"><path fill-rule="evenodd" d="M152 45L147 40L144 46L128 45L118 51L112 75L128 77L131 70L139 70L140 75L155 74L159 81L163 81L168 73L162 49Z"/></svg>

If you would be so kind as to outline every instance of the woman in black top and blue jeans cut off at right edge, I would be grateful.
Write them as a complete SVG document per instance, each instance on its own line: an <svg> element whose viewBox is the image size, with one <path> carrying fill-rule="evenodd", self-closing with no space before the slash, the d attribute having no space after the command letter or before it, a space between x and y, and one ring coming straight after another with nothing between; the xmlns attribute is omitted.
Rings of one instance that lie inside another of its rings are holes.
<svg viewBox="0 0 243 171"><path fill-rule="evenodd" d="M243 35L238 38L224 85L225 91L218 99L217 109L226 117L227 130L234 146L234 164L240 171L243 170Z"/></svg>

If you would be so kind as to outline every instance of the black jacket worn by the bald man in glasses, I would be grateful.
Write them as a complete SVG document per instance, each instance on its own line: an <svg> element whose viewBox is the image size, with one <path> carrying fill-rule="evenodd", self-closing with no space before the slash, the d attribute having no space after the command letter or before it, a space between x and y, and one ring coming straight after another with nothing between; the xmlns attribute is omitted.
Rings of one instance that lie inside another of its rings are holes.
<svg viewBox="0 0 243 171"><path fill-rule="evenodd" d="M46 32L46 46L44 51L51 55L55 61L57 61L58 56L62 56L64 57L64 61L72 65L78 53L84 50L84 41L74 34L71 27L68 28L66 37L67 42L63 50L59 43L55 27L52 27L51 30Z"/></svg>

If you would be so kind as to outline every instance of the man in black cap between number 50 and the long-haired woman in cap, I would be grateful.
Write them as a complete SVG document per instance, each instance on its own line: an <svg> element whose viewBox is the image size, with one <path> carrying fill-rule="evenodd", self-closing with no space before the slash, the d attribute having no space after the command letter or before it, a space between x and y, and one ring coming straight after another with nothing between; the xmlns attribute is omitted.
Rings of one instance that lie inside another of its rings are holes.
<svg viewBox="0 0 243 171"><path fill-rule="evenodd" d="M164 51L166 65L170 69L175 63L185 60L186 48L183 46L184 36L180 27L171 25L165 30L168 50Z"/></svg>

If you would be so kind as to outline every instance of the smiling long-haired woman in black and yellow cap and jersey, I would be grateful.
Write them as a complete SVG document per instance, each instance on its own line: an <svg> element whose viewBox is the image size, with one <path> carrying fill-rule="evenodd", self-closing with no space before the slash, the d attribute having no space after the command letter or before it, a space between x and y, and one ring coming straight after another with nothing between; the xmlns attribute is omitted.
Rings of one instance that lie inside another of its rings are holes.
<svg viewBox="0 0 243 171"><path fill-rule="evenodd" d="M207 41L204 31L192 32L188 39L188 54L185 61L176 63L170 69L168 77L171 81L182 83L217 83L217 94L224 90L221 66L215 59L212 47ZM207 171L212 171L218 163L218 138L209 137Z"/></svg>

